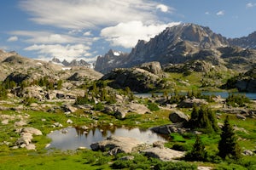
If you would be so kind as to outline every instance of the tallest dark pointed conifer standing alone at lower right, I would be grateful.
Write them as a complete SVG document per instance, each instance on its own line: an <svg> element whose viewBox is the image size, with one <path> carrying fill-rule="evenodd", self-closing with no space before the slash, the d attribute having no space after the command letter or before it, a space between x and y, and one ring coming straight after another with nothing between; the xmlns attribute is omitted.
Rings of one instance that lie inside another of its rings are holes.
<svg viewBox="0 0 256 170"><path fill-rule="evenodd" d="M218 156L223 159L226 156L236 160L241 158L241 149L236 143L236 135L233 127L230 125L229 116L226 116L224 120L224 127L222 127L220 138L218 142Z"/></svg>

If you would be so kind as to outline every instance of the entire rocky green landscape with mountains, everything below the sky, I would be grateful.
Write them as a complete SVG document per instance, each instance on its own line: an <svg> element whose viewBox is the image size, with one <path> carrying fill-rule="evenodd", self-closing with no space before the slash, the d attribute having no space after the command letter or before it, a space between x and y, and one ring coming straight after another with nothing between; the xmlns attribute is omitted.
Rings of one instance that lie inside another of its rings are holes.
<svg viewBox="0 0 256 170"><path fill-rule="evenodd" d="M245 38L172 26L130 54L109 50L95 70L1 50L0 169L255 169L256 102L244 94L256 93L256 51Z"/></svg>

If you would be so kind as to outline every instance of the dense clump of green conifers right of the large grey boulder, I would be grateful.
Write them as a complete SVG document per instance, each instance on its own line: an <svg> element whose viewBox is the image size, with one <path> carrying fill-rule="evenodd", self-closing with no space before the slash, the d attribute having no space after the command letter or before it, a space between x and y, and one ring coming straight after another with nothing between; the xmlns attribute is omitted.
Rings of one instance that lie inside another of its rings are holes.
<svg viewBox="0 0 256 170"><path fill-rule="evenodd" d="M201 128L207 133L218 132L216 116L206 105L194 106L188 126L193 129Z"/></svg>

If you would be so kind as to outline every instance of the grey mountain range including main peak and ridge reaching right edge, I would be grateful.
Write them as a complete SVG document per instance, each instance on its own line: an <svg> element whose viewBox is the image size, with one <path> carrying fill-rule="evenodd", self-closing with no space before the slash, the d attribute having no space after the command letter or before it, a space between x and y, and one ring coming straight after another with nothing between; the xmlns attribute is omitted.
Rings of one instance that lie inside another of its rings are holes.
<svg viewBox="0 0 256 170"><path fill-rule="evenodd" d="M196 59L207 60L213 65L225 65L228 68L246 64L249 69L256 63L254 48L256 31L247 37L227 38L206 26L181 24L167 27L148 42L139 40L130 54L109 50L107 54L98 56L95 70L107 73L113 68L132 67L150 61L167 65Z"/></svg>

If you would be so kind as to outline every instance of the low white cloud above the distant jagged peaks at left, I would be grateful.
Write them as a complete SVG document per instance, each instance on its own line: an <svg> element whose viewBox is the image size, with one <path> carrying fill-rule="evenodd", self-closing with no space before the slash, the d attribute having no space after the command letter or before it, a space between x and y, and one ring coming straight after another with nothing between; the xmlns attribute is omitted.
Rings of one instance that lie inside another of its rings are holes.
<svg viewBox="0 0 256 170"><path fill-rule="evenodd" d="M54 45L37 45L34 44L30 47L25 48L26 51L37 51L37 54L45 56L45 58L53 58L56 57L58 59L67 59L68 61L71 61L73 59L84 57L84 54L86 56L89 56L90 53L88 50L90 49L89 46L85 46L84 44L76 44L76 45L70 45L67 44L66 46L63 46L61 44L54 44Z"/></svg>

